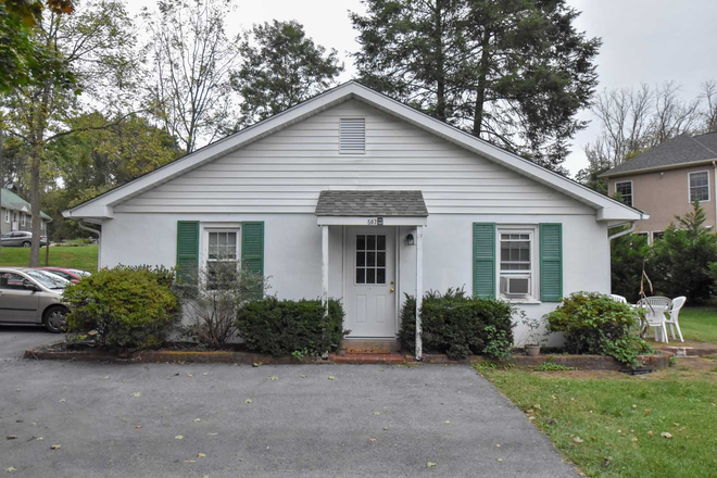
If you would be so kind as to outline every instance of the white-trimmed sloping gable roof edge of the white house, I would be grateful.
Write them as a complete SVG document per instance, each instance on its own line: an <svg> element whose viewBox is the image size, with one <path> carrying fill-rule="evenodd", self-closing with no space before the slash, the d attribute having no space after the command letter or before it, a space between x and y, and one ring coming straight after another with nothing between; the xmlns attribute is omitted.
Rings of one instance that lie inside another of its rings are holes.
<svg viewBox="0 0 717 478"><path fill-rule="evenodd" d="M103 219L112 218L113 206L155 186L200 167L216 158L248 146L290 125L301 122L344 101L355 99L403 120L428 133L461 146L482 158L515 171L596 210L598 221L638 221L646 214L619 201L593 191L573 179L561 176L516 154L498 148L480 138L428 116L411 106L372 90L354 80L337 86L316 97L278 113L263 122L249 126L187 154L151 173L112 189L62 214L65 217Z"/></svg>

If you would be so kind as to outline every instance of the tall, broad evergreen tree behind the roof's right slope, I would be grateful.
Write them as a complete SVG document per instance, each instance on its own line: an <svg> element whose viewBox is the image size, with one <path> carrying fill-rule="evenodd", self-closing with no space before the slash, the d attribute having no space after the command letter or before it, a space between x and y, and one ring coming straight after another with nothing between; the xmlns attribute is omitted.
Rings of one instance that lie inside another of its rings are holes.
<svg viewBox="0 0 717 478"><path fill-rule="evenodd" d="M601 40L565 0L365 0L360 79L555 171L584 128Z"/></svg>

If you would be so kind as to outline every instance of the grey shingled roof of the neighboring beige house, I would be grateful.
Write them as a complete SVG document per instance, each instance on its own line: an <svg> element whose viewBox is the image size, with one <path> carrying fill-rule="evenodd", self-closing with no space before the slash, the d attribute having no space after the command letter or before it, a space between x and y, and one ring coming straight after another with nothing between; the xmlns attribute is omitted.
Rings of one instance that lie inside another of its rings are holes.
<svg viewBox="0 0 717 478"><path fill-rule="evenodd" d="M601 174L602 177L628 173L688 166L717 160L717 133L691 137L688 134L676 136L650 148L642 154Z"/></svg>

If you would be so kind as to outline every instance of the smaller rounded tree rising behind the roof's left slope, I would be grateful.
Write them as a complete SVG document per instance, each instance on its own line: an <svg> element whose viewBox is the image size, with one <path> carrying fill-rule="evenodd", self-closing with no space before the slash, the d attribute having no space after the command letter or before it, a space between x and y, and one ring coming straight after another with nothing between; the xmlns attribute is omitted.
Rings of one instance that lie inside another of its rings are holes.
<svg viewBox="0 0 717 478"><path fill-rule="evenodd" d="M244 33L241 65L231 77L241 95L240 124L262 121L320 93L343 71L338 52L306 37L297 21L254 25Z"/></svg>

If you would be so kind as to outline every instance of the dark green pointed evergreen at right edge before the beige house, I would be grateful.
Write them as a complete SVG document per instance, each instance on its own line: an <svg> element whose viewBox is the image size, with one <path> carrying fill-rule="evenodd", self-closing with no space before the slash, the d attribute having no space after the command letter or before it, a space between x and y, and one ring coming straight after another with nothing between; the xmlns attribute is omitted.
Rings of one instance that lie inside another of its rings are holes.
<svg viewBox="0 0 717 478"><path fill-rule="evenodd" d="M652 280L668 297L685 295L696 304L709 299L713 280L709 264L717 262L717 235L705 227L699 202L692 212L676 216L662 239L655 241Z"/></svg>

